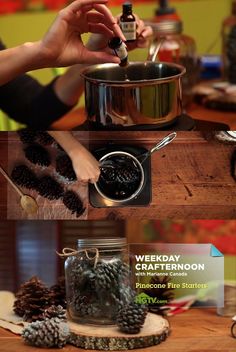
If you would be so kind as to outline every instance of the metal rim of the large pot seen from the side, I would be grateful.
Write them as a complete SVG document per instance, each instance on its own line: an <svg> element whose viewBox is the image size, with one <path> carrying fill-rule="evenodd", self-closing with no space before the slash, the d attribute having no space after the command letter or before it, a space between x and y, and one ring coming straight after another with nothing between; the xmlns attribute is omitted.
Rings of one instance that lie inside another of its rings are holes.
<svg viewBox="0 0 236 352"><path fill-rule="evenodd" d="M134 81L110 81L110 80L105 80L105 79L97 79L97 78L91 78L87 77L86 74L89 72L92 72L94 69L97 68L103 68L103 67L119 67L119 64L114 64L114 63L104 63L104 64L97 64L97 65L91 65L89 67L84 68L81 70L80 75L87 81L95 83L95 84L104 84L104 85L110 85L110 86L125 86L125 87L132 87L137 84L142 84L144 85L150 85L150 84L156 84L156 83L167 83L173 80L179 79L181 76L183 76L186 72L186 68L184 66L172 63L172 62L153 62L153 61L132 61L129 63L129 65L167 65L170 67L174 67L179 69L179 73L168 76L168 77L163 77L163 78L153 78L153 79L140 79L140 80L134 80Z"/></svg>

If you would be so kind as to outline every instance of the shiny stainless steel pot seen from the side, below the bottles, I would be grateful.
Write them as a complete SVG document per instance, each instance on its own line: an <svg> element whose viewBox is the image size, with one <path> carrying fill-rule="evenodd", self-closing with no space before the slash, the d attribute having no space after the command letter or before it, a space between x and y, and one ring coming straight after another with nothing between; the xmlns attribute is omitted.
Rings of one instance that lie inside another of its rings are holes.
<svg viewBox="0 0 236 352"><path fill-rule="evenodd" d="M185 68L164 62L93 65L85 69L85 107L94 123L160 126L182 113L181 76Z"/></svg>

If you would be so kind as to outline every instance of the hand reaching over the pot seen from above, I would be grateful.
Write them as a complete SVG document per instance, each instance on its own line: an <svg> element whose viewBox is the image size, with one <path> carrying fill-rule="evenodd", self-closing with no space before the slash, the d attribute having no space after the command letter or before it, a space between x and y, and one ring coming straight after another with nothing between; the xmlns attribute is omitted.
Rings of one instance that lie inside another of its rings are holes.
<svg viewBox="0 0 236 352"><path fill-rule="evenodd" d="M100 175L99 162L81 144L70 151L69 156L72 161L77 179L81 182L97 182Z"/></svg>

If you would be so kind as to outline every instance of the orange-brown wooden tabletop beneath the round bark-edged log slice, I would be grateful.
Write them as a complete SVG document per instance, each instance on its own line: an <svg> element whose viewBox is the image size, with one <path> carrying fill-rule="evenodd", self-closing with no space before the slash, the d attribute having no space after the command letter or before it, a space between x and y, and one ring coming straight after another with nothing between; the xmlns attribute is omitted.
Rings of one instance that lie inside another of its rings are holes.
<svg viewBox="0 0 236 352"><path fill-rule="evenodd" d="M214 309L190 309L170 317L171 334L158 346L138 349L139 352L235 352L236 340L230 335L230 317L216 315ZM42 349L26 346L21 338L0 329L1 352L42 352ZM44 349L43 351L59 351ZM64 352L85 350L67 345Z"/></svg>

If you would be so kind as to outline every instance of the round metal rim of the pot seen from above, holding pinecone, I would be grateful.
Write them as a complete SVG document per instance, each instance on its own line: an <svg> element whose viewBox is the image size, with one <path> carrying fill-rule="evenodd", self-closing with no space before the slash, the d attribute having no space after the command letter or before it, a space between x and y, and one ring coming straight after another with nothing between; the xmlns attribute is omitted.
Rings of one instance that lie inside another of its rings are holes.
<svg viewBox="0 0 236 352"><path fill-rule="evenodd" d="M106 196L100 189L99 189L99 186L97 184L97 182L95 182L93 185L94 187L96 188L97 192L105 199L111 201L111 202L114 202L114 203L123 203L123 202L128 202L129 200L132 200L134 199L142 190L143 188L143 185L144 185L144 171L143 171L143 166L142 164L140 163L140 161L134 156L132 155L131 153L128 153L128 152L124 152L124 151L114 151L114 152L110 152L110 153L107 153L105 155L103 155L100 159L99 159L99 162L101 161L104 161L105 159L107 159L108 157L112 156L112 155L125 155L125 156L128 156L130 158L132 158L135 163L139 166L139 169L141 171L141 180L140 180L140 183L139 183L139 187L137 188L137 190L131 195L129 196L128 198L125 198L125 199L114 199L114 198L110 198L108 196Z"/></svg>

